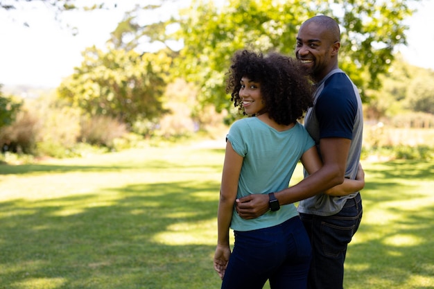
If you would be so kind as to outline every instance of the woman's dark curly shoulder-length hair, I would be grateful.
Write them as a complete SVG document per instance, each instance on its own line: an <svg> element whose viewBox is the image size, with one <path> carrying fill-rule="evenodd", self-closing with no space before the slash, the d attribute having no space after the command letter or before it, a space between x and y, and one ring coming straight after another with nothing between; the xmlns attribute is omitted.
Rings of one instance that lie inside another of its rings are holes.
<svg viewBox="0 0 434 289"><path fill-rule="evenodd" d="M232 58L226 93L231 101L243 111L239 96L241 78L249 78L261 84L261 95L270 119L289 125L301 119L313 103L311 82L300 68L300 62L279 53L254 53L238 51Z"/></svg>

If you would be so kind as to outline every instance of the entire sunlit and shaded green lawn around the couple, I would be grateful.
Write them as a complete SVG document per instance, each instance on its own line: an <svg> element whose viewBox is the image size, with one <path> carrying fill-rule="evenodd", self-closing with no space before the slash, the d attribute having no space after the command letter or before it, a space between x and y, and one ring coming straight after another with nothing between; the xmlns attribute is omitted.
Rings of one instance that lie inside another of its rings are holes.
<svg viewBox="0 0 434 289"><path fill-rule="evenodd" d="M0 165L0 289L219 288L223 158L166 146ZM364 167L345 288L434 288L434 162Z"/></svg>

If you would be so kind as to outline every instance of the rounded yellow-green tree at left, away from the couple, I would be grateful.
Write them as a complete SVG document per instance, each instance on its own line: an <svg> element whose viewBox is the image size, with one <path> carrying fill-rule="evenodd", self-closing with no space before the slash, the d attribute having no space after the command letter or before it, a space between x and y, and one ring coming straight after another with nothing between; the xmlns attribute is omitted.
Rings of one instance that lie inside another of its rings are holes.
<svg viewBox="0 0 434 289"><path fill-rule="evenodd" d="M61 98L91 116L111 116L128 125L164 114L164 78L171 64L164 51L140 55L92 47L83 52L83 58L81 67L60 85Z"/></svg>

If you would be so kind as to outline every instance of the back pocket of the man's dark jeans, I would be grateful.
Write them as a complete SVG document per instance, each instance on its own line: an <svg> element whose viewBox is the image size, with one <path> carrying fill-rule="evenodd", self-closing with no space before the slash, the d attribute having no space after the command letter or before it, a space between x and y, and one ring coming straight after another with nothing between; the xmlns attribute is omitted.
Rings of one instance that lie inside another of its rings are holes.
<svg viewBox="0 0 434 289"><path fill-rule="evenodd" d="M328 222L321 223L321 238L324 254L327 256L338 257L345 252L348 243L354 234L354 227L340 227L339 225Z"/></svg>

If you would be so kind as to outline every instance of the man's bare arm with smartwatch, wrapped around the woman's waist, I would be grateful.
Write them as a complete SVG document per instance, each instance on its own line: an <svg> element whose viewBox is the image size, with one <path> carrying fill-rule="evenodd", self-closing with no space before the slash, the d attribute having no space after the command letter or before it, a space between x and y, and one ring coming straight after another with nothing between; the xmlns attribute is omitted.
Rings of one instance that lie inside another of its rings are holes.
<svg viewBox="0 0 434 289"><path fill-rule="evenodd" d="M311 198L313 195L342 184L345 178L350 144L351 139L340 137L320 139L323 166L295 186L290 186L288 189L275 193L279 204L291 204ZM306 156L304 155L302 157L303 165L307 167L311 166L312 157L313 152L309 152ZM236 209L241 218L257 218L268 211L268 195L253 194L236 200Z"/></svg>

